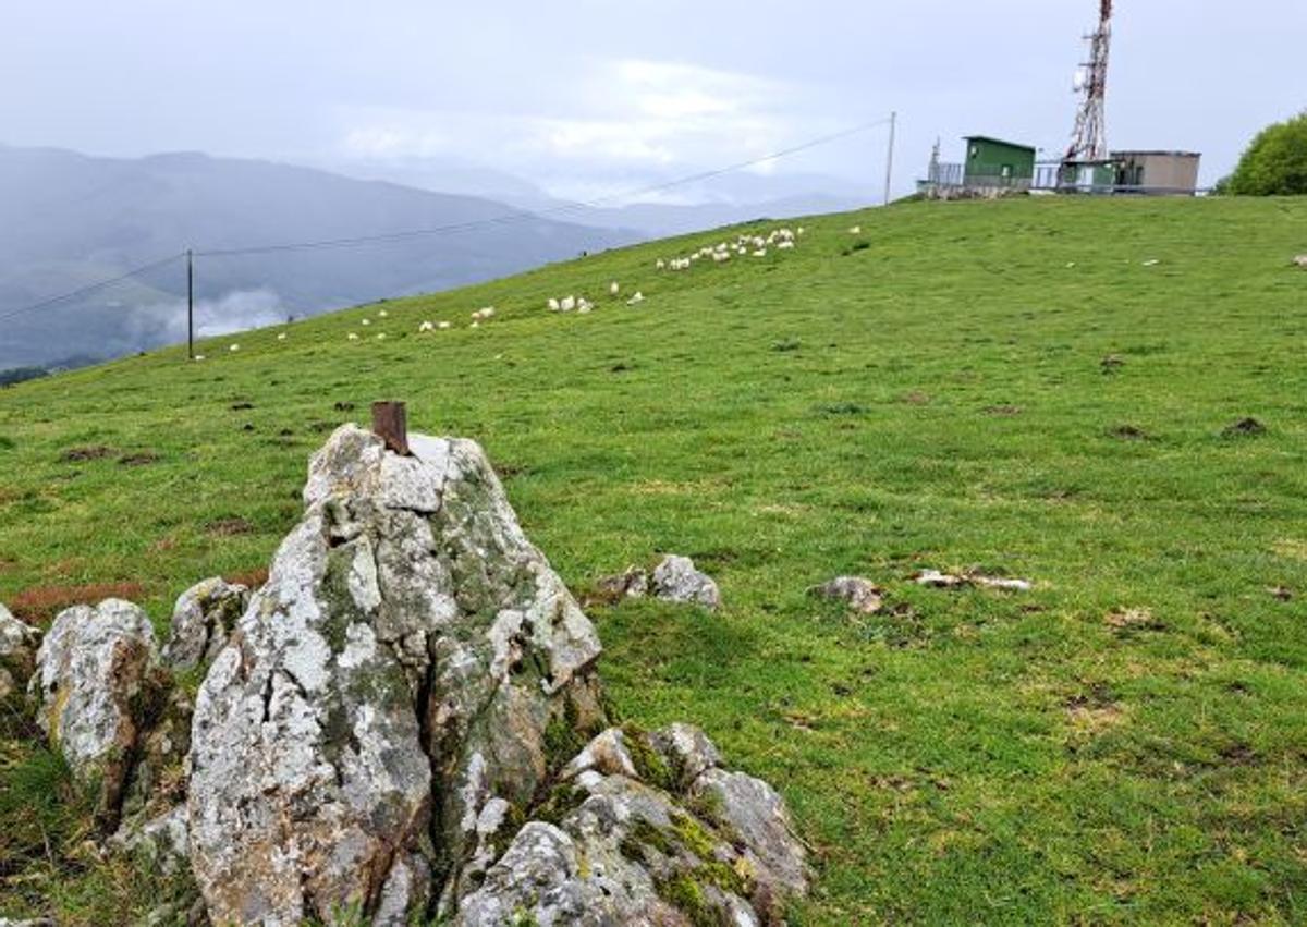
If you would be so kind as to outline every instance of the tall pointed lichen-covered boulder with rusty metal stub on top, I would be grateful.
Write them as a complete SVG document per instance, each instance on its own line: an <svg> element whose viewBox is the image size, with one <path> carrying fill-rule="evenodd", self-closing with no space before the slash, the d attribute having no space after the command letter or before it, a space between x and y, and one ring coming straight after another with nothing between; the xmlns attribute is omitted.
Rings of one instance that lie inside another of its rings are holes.
<svg viewBox="0 0 1307 927"><path fill-rule="evenodd" d="M214 923L403 924L459 897L603 727L595 632L481 448L410 446L331 437L200 688L190 843Z"/></svg>

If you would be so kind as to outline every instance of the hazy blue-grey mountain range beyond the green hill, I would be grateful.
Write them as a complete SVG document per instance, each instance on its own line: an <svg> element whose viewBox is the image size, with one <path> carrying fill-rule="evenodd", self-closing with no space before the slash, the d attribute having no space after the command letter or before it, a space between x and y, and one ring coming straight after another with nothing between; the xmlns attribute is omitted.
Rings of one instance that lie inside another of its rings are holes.
<svg viewBox="0 0 1307 927"><path fill-rule="evenodd" d="M468 226L384 244L203 258L197 319L201 333L212 335L463 286L643 238L856 205L844 191L758 203L578 208L491 170L420 167L388 173L412 184L404 186L367 179L378 175L367 166L345 177L192 153L120 160L0 145L0 370L76 366L183 340L182 261L85 298L4 316L187 247ZM421 188L442 182L457 190ZM544 214L497 221L520 211Z"/></svg>

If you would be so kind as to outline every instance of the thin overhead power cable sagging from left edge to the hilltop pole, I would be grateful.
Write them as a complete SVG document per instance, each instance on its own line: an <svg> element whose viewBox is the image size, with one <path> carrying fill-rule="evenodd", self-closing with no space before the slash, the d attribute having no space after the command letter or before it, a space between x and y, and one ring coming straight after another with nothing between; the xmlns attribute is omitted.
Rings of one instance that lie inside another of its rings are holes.
<svg viewBox="0 0 1307 927"><path fill-rule="evenodd" d="M167 258L161 258L159 260L152 261L149 264L141 264L135 267L125 273L116 277L110 277L107 280L101 280L86 286L81 286L68 293L60 293L59 295L48 297L39 302L30 303L27 306L21 306L18 309L9 310L8 312L0 314L0 322L5 319L12 319L26 312L34 312L48 306L58 305L60 302L67 302L69 299L76 299L78 297L86 297L99 290L112 286L114 284L120 284L124 280L141 276L150 271L158 269L173 261L182 260L184 258L235 258L244 255L260 255L260 254L276 254L285 251L314 251L320 248L340 248L340 247L354 247L361 244L383 244L388 242L401 242L412 238L425 238L429 235L448 235L457 234L461 231L474 231L476 229L484 229L497 225L507 225L512 222L521 222L533 218L548 218L552 216L558 216L562 213L579 212L583 209L599 209L609 205L618 200L629 200L637 196L648 196L650 194L660 194L668 190L674 190L676 187L684 187L691 183L702 183L703 180L711 180L714 178L721 177L724 174L733 174L736 171L746 170L749 167L757 167L771 161L779 161L780 158L787 158L800 152L806 152L821 145L829 145L834 141L842 139L848 139L863 132L869 132L870 129L880 128L882 126L891 124L893 118L877 119L874 122L863 123L860 126L853 126L852 128L843 129L840 132L833 132L830 135L823 135L816 139L809 139L799 145L792 145L789 148L783 148L780 150L772 152L770 154L763 154L762 157L749 158L748 161L738 161L724 167L716 167L714 170L701 171L698 174L690 174L687 177L681 177L674 180L667 180L664 183L655 183L647 187L639 187L637 190L629 190L621 194L609 194L605 196L599 196L592 200L583 203L563 203L557 207L550 207L548 209L515 209L502 216L494 216L490 218L472 220L467 222L455 222L451 225L438 225L426 229L406 229L400 231L388 231L375 235L358 235L352 238L327 238L322 241L308 241L308 242L284 242L277 244L257 244L247 247L230 247L230 248L207 248L207 250L193 250L193 251L179 251L178 254L169 255Z"/></svg>

